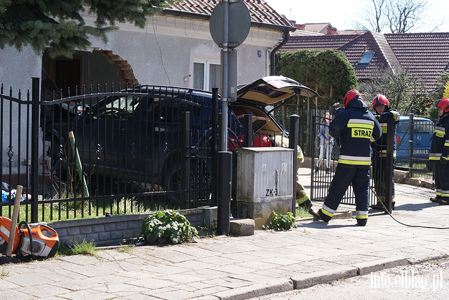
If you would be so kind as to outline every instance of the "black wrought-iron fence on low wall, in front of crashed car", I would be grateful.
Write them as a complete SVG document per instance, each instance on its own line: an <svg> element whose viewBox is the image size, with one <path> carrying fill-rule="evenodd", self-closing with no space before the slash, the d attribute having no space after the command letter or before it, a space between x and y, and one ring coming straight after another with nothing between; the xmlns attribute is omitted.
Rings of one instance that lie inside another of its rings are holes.
<svg viewBox="0 0 449 300"><path fill-rule="evenodd" d="M32 84L25 97L1 86L0 215L16 185L31 222L215 205L217 95L111 86L41 101Z"/></svg>

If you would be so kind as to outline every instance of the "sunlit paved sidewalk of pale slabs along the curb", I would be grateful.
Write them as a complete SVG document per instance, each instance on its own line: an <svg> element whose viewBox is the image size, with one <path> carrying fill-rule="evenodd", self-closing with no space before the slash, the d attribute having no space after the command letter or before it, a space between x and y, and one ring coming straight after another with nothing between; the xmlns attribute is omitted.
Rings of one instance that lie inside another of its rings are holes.
<svg viewBox="0 0 449 300"><path fill-rule="evenodd" d="M304 168L304 185L310 169ZM373 210L354 219L300 220L290 231L217 236L199 243L140 246L130 253L69 256L0 266L0 298L8 300L249 299L449 256L449 205L435 192L396 184L393 217ZM316 207L321 203L315 203ZM354 210L341 206L339 210Z"/></svg>

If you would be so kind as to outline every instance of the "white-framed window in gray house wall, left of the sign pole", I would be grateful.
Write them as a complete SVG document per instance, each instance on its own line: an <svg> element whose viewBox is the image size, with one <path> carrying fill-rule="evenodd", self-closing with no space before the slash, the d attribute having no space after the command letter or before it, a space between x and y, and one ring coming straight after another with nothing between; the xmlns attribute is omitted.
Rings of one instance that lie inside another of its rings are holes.
<svg viewBox="0 0 449 300"><path fill-rule="evenodd" d="M194 89L212 91L222 85L222 68L218 60L196 60L194 62Z"/></svg>

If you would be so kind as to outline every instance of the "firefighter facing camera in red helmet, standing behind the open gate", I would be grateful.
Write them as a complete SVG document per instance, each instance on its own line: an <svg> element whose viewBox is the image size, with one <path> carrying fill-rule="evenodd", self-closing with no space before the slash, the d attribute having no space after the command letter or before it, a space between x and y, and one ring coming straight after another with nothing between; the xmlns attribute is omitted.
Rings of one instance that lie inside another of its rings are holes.
<svg viewBox="0 0 449 300"><path fill-rule="evenodd" d="M376 195L380 198L380 201L385 203L385 171L387 170L387 121L393 119L395 127L399 123L400 114L397 110L390 108L390 102L384 95L377 95L373 99L374 117L379 122L382 128L382 137L373 142L371 147L373 148L373 174L374 174L374 190ZM395 136L395 129L393 129L393 136ZM396 139L393 139L393 157L396 157ZM395 164L393 162L393 169ZM395 182L394 174L391 178L392 181L392 196L391 196L391 208L395 209ZM384 205L377 203L373 208L384 210Z"/></svg>

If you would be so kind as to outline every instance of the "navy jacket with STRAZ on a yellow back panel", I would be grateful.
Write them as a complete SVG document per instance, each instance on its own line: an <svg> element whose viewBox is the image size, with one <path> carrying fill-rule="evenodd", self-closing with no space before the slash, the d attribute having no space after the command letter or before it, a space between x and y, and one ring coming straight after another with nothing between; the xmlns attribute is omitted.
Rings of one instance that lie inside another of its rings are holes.
<svg viewBox="0 0 449 300"><path fill-rule="evenodd" d="M362 100L353 99L329 124L329 135L340 139L341 167L370 168L371 142L381 137L382 128L366 108Z"/></svg>

